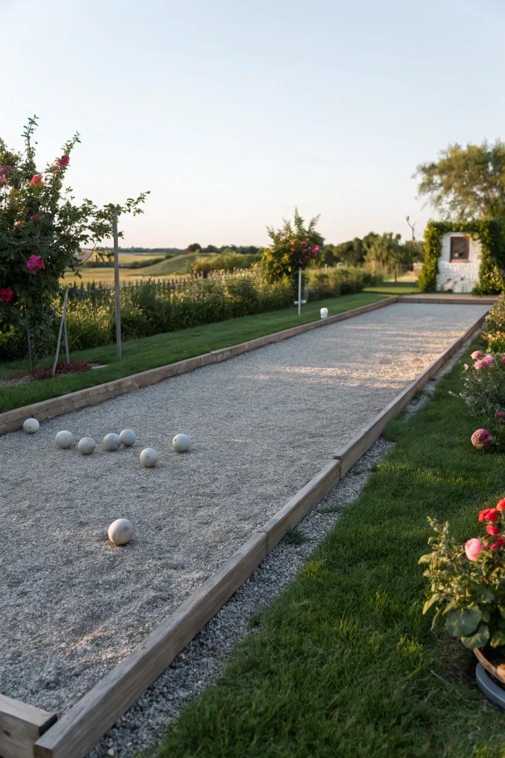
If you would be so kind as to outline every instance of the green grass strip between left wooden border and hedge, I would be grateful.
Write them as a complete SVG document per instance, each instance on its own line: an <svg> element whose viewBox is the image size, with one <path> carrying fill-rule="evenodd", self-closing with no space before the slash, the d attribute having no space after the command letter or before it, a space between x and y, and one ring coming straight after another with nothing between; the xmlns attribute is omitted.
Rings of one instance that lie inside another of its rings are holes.
<svg viewBox="0 0 505 758"><path fill-rule="evenodd" d="M116 359L115 345L107 345L88 350L72 352L70 359L107 364L106 368L88 371L85 374L71 374L55 377L44 381L26 384L12 384L0 387L0 412L28 405L32 402L45 400L67 392L92 387L102 382L119 377L156 368L185 358L198 356L202 352L216 350L220 347L245 342L263 334L287 329L296 324L306 324L320 316L320 308L326 306L330 314L341 313L376 302L391 294L415 292L416 288L406 285L387 283L380 287L370 287L368 290L355 295L344 295L317 302L310 302L302 308L298 317L295 308L270 311L242 318L232 318L214 324L204 324L166 334L156 334L141 340L129 340L123 343L123 359ZM61 353L64 356L64 352ZM37 365L50 365L51 359L37 362ZM4 364L0 369L0 377L9 377L17 371L27 370L26 361L16 361Z"/></svg>

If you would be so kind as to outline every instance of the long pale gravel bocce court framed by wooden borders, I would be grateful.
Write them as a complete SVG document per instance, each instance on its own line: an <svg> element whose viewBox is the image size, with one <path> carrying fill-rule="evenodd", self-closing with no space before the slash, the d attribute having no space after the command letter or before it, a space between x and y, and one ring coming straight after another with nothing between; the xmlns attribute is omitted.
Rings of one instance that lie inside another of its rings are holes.
<svg viewBox="0 0 505 758"><path fill-rule="evenodd" d="M0 437L0 692L68 709L486 310L389 305Z"/></svg>

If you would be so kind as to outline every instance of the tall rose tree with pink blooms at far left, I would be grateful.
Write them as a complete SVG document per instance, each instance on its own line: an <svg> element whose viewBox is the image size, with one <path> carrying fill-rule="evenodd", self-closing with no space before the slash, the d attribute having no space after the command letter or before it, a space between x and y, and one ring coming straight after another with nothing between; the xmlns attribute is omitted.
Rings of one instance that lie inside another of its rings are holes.
<svg viewBox="0 0 505 758"><path fill-rule="evenodd" d="M0 331L20 327L27 314L30 328L36 325L47 336L59 281L66 270L77 271L79 249L112 236L114 210L142 213L148 193L123 205L98 208L89 199L76 204L73 190L63 185L79 133L41 169L35 158L36 127L34 116L23 131L23 152L11 151L0 139Z"/></svg>

